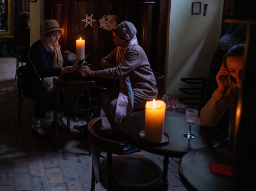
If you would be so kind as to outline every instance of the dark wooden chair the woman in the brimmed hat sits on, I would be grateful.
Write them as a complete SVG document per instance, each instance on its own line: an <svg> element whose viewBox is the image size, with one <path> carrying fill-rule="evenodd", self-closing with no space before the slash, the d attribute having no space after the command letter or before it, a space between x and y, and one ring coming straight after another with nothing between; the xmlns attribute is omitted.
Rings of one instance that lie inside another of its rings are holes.
<svg viewBox="0 0 256 191"><path fill-rule="evenodd" d="M18 90L19 90L19 114L18 114L18 122L17 124L20 124L21 121L21 107L22 107L22 102L25 98L30 98L32 99L34 102L36 102L36 99L31 97L30 95L27 95L24 93L24 91L22 90L22 75L23 75L23 71L25 69L25 65L23 66L19 66L16 68L16 74L17 74L17 78L18 78L18 82L17 82L17 86L18 86Z"/></svg>

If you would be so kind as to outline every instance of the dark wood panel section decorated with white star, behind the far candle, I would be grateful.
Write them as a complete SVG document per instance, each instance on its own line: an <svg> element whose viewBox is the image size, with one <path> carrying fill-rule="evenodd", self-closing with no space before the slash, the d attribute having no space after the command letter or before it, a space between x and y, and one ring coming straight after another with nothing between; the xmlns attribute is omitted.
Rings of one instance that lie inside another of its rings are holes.
<svg viewBox="0 0 256 191"><path fill-rule="evenodd" d="M71 36L68 39L69 50L76 52L76 39L85 39L85 55L89 54L88 60L99 61L106 56L115 45L112 41L111 31L100 28L100 19L105 15L116 15L117 24L123 20L122 1L71 1ZM85 27L82 21L92 15L92 26Z"/></svg>

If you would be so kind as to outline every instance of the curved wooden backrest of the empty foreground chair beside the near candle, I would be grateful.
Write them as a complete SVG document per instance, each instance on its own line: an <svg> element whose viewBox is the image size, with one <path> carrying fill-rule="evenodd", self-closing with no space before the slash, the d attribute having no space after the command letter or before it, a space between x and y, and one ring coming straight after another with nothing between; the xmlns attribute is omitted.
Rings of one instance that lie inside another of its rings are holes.
<svg viewBox="0 0 256 191"><path fill-rule="evenodd" d="M124 143L106 139L96 133L101 129L102 120L100 117L96 117L88 124L88 139L91 143L93 169L96 180L100 181L99 161L101 151L107 151L107 157L111 158L112 153L122 155ZM111 160L110 160L111 161ZM110 164L111 165L111 164Z"/></svg>

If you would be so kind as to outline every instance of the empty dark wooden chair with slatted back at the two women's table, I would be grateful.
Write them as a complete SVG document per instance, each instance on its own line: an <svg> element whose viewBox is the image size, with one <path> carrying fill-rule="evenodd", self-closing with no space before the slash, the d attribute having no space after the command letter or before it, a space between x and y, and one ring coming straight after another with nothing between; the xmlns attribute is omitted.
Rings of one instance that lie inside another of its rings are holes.
<svg viewBox="0 0 256 191"><path fill-rule="evenodd" d="M97 108L94 106L93 108L90 107L90 89L96 87L95 81L88 81L88 82L64 82L57 80L56 78L53 79L53 83L56 87L56 97L55 97L55 119L56 119L56 126L55 126L55 136L54 136L54 146L57 142L57 132L58 132L58 111L62 110L67 114L67 127L69 127L70 122L70 114L75 114L79 110L84 110L86 112L86 121L87 124L89 123L90 117L90 109ZM84 94L85 91L85 94ZM61 95L60 95L61 93ZM86 97L85 108L79 102L81 95ZM83 107L83 108L82 108Z"/></svg>

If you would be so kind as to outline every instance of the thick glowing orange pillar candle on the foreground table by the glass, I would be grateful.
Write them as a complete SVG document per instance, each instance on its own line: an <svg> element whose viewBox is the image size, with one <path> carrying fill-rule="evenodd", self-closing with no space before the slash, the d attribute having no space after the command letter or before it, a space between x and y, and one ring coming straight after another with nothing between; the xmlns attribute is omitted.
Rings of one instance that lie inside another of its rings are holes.
<svg viewBox="0 0 256 191"><path fill-rule="evenodd" d="M163 140L166 103L162 100L147 101L145 107L145 136L147 141Z"/></svg>

